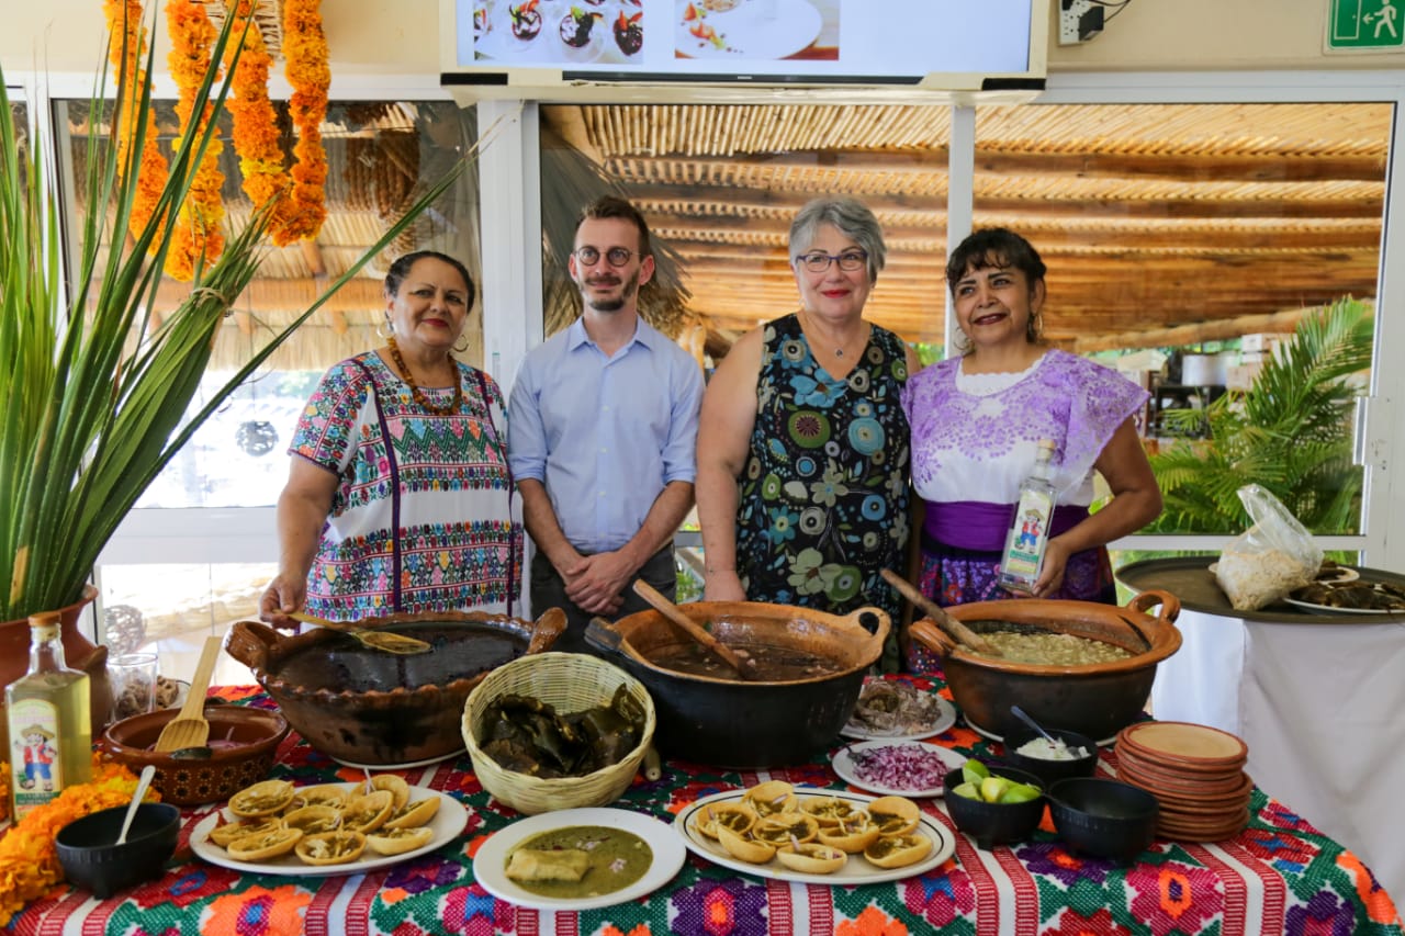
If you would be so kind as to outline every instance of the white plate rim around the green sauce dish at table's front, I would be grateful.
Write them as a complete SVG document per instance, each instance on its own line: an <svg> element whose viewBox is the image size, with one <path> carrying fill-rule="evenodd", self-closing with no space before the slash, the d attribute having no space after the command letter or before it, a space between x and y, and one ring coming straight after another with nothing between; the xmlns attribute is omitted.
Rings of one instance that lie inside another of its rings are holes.
<svg viewBox="0 0 1405 936"><path fill-rule="evenodd" d="M503 873L507 869L507 856L518 845L534 835L569 825L607 825L624 829L625 832L634 832L649 843L649 847L653 850L653 863L643 873L643 877L629 887L621 887L618 891L597 897L542 897L541 894L523 890ZM683 867L686 857L687 850L679 842L679 836L673 835L667 825L651 815L603 807L558 810L518 819L489 838L478 849L478 854L473 856L473 880L482 884L483 890L493 897L504 899L509 904L517 904L518 906L531 906L532 909L593 909L624 904L659 890L673 880L679 869Z"/></svg>

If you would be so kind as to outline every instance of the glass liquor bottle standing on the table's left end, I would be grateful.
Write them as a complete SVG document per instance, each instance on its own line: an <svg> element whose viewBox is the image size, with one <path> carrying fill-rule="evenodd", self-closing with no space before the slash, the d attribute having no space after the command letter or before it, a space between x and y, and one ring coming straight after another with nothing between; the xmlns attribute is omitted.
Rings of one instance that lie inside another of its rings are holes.
<svg viewBox="0 0 1405 936"><path fill-rule="evenodd" d="M10 783L18 822L93 769L89 676L63 661L56 613L30 616L30 672L6 686Z"/></svg>

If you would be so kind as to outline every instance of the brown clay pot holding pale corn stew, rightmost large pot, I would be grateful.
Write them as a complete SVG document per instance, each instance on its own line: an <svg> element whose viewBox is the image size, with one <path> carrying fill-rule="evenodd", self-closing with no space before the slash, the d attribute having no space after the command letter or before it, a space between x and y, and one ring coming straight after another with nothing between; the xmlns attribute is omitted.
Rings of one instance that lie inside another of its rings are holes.
<svg viewBox="0 0 1405 936"><path fill-rule="evenodd" d="M1152 617L1146 609L1161 606ZM1020 706L1044 725L1103 741L1141 717L1156 677L1156 663L1180 648L1173 621L1180 602L1166 592L1142 592L1125 607L1096 602L1012 599L957 604L946 611L976 634L998 630L1052 631L1121 646L1125 659L1073 666L1017 663L957 646L930 618L912 625L912 638L943 658L957 707L972 727L1005 736L1023 725L1010 714Z"/></svg>

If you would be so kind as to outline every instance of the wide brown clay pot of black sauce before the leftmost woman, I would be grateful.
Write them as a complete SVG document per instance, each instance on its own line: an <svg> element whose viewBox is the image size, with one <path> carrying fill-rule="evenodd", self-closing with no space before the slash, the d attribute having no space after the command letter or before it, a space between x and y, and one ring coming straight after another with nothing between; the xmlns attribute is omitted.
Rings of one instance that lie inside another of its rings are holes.
<svg viewBox="0 0 1405 936"><path fill-rule="evenodd" d="M565 624L559 609L535 624L482 611L358 621L433 646L402 656L330 628L287 637L266 624L239 621L226 649L322 753L355 766L403 766L461 752L459 720L473 687L495 668L548 649Z"/></svg>

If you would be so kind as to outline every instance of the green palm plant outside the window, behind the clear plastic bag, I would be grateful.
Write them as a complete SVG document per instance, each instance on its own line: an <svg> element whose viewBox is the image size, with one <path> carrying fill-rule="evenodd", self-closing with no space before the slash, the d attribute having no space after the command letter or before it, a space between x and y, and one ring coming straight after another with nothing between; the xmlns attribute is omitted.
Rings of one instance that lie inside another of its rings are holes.
<svg viewBox="0 0 1405 936"><path fill-rule="evenodd" d="M1148 530L1242 530L1238 490L1256 482L1314 533L1353 531L1361 469L1352 464L1352 413L1360 391L1347 378L1370 367L1371 332L1368 306L1339 299L1300 320L1248 392L1231 391L1205 410L1168 410L1180 429L1207 422L1210 437L1151 457L1165 509Z"/></svg>

